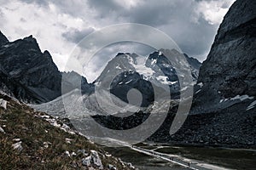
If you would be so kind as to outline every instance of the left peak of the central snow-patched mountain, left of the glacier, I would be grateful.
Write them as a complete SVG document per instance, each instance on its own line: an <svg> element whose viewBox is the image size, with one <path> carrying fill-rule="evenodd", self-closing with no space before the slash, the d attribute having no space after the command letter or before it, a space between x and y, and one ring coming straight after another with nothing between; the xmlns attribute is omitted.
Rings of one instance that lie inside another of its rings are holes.
<svg viewBox="0 0 256 170"><path fill-rule="evenodd" d="M110 90L110 92L119 99L126 99L126 94L131 88L137 87L143 94L143 106L152 102L153 88L151 84L143 79L143 76L137 73L136 64L137 54L117 54L102 71L102 74L96 79L95 84L100 88ZM110 85L110 87L108 87ZM110 88L110 89L109 89Z"/></svg>

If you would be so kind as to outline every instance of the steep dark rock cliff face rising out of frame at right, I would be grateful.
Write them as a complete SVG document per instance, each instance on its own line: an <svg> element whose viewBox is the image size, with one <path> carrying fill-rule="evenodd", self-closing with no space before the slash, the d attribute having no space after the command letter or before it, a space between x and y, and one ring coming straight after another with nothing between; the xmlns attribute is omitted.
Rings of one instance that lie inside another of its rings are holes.
<svg viewBox="0 0 256 170"><path fill-rule="evenodd" d="M256 1L237 0L231 6L198 82L224 98L256 95Z"/></svg>

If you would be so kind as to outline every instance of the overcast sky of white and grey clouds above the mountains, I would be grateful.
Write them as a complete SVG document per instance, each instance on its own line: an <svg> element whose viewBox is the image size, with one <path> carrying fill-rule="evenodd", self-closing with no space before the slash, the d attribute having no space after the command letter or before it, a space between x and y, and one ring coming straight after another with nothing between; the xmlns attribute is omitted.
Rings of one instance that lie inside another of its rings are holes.
<svg viewBox="0 0 256 170"><path fill-rule="evenodd" d="M0 0L0 30L10 41L33 35L42 51L49 50L63 71L75 45L92 31L120 23L139 23L164 31L177 42L183 53L201 61L206 59L218 26L235 0ZM120 36L120 35L118 35ZM126 47L129 45L126 44ZM129 48L130 47L130 48ZM111 46L112 53L140 52ZM134 47L134 46L133 46ZM139 46L137 46L139 47ZM87 71L92 81L98 65L95 59ZM99 71L98 71L99 72Z"/></svg>

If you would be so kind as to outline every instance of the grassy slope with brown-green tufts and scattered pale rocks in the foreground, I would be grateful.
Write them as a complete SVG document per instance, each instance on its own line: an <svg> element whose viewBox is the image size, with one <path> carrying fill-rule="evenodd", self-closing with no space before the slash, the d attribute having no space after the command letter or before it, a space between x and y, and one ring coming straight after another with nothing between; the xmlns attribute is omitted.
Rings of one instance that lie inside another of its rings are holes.
<svg viewBox="0 0 256 170"><path fill-rule="evenodd" d="M0 94L0 99L8 101L8 109L0 108L0 170L1 169L81 169L82 154L78 150L97 150L102 159L103 167L112 164L118 169L122 163L113 156L106 156L106 152L96 144L92 144L79 134L72 134L54 127L38 115L32 108L18 104L8 97ZM14 139L20 139L22 151L14 150ZM72 139L71 144L66 139ZM45 142L49 142L48 148ZM66 156L65 151L75 152L77 156Z"/></svg>

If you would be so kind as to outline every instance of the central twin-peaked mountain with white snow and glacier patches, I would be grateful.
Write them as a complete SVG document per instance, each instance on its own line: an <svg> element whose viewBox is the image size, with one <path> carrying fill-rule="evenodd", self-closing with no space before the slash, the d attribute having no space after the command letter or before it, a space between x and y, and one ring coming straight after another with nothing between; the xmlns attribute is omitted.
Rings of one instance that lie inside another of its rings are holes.
<svg viewBox="0 0 256 170"><path fill-rule="evenodd" d="M163 52L172 57L185 56L191 69L189 72L196 82L201 66L197 59L189 58L188 55L180 54L174 49L160 49L149 54L148 58L137 54L117 54L108 62L95 84L109 89L112 94L125 102L128 102L126 94L129 90L137 88L143 94L142 106L148 106L154 101L154 91L161 92L163 95L166 91L170 91L172 99L177 99L180 91L177 72Z"/></svg>

